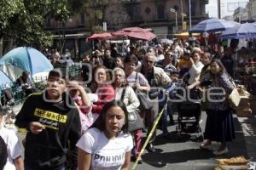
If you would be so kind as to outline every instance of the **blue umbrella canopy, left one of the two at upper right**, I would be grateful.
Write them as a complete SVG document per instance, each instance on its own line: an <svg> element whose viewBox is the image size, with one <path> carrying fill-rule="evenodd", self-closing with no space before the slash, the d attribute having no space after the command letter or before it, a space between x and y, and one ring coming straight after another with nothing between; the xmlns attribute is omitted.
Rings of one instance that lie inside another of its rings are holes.
<svg viewBox="0 0 256 170"><path fill-rule="evenodd" d="M225 31L227 28L240 25L235 21L219 20L217 18L212 18L208 20L203 20L197 25L195 25L189 32L216 32Z"/></svg>

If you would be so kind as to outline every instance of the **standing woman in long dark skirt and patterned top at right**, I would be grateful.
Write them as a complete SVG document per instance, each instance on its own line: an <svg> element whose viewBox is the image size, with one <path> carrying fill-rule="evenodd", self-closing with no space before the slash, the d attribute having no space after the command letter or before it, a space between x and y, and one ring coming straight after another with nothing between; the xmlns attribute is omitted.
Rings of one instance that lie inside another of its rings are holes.
<svg viewBox="0 0 256 170"><path fill-rule="evenodd" d="M219 59L212 59L210 64L211 72L201 77L200 83L207 82L213 74L214 79L208 89L208 110L205 129L205 141L201 144L201 149L212 150L212 141L219 142L218 150L213 154L223 155L229 152L226 143L235 139L235 129L227 96L233 91L233 84L229 74L225 71ZM191 88L191 87L189 87Z"/></svg>

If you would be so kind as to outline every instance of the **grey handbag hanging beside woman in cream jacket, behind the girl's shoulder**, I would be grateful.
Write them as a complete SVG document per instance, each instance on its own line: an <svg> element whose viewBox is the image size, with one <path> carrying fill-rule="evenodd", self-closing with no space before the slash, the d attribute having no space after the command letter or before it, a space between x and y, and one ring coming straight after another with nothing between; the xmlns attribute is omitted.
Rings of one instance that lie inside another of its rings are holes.
<svg viewBox="0 0 256 170"><path fill-rule="evenodd" d="M124 99L126 88L123 89L120 100ZM139 110L128 113L128 131L133 132L144 127L143 119L139 116Z"/></svg>

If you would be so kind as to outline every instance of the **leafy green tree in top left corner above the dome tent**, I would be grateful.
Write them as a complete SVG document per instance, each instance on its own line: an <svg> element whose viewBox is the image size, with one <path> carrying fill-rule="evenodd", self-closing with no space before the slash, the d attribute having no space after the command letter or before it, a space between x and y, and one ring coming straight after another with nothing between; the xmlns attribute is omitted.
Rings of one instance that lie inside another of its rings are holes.
<svg viewBox="0 0 256 170"><path fill-rule="evenodd" d="M52 34L44 31L46 19L54 16L56 20L67 20L72 8L69 4L72 2L72 0L1 0L0 41L2 43L0 43L3 45L4 39L12 39L17 46L34 48L51 46ZM0 56L2 54L3 46L0 47Z"/></svg>

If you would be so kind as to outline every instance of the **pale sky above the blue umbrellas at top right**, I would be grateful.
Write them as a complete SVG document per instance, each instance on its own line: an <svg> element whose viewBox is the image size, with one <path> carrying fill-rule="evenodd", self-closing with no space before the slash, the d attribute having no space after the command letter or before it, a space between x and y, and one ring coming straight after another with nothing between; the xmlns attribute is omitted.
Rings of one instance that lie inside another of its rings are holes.
<svg viewBox="0 0 256 170"><path fill-rule="evenodd" d="M209 17L218 17L217 0L209 0L206 11ZM237 7L245 7L248 0L221 0L221 17L232 15Z"/></svg>

